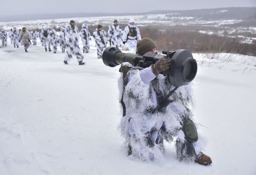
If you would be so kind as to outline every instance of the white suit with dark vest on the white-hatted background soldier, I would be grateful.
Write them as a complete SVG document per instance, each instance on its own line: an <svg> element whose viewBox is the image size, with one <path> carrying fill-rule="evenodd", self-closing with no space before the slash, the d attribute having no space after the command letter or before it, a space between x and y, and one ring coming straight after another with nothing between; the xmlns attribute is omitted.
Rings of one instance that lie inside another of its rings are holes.
<svg viewBox="0 0 256 175"><path fill-rule="evenodd" d="M128 45L130 52L136 52L137 40L141 40L139 28L128 24L124 28L123 41Z"/></svg>

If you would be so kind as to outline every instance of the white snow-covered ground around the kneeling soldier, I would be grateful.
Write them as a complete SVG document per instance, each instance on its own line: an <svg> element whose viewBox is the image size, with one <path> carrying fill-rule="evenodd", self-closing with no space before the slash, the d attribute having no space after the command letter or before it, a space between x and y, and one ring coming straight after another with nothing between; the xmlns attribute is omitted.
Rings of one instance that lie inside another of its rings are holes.
<svg viewBox="0 0 256 175"><path fill-rule="evenodd" d="M126 156L117 130L119 67L105 66L94 47L83 66L75 58L65 65L60 49L45 52L40 42L28 51L0 47L1 175L256 174L255 57L194 54L194 115L213 163L178 162L166 143L159 165Z"/></svg>

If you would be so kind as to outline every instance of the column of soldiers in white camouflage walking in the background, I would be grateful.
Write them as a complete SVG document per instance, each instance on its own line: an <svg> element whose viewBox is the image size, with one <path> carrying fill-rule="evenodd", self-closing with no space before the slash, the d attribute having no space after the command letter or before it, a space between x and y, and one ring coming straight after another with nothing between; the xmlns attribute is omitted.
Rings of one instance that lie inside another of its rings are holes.
<svg viewBox="0 0 256 175"><path fill-rule="evenodd" d="M30 33L25 27L19 31L17 31L16 27L13 27L8 34L4 28L1 28L0 38L3 46L7 46L8 36L11 40L11 44L13 44L14 47L18 48L19 45L24 44L24 49L26 52L31 43L33 43L33 45L37 45L38 37L46 52L51 52L53 50L53 53L56 53L58 44L60 44L62 53L65 53L66 50L64 58L65 64L68 64L68 61L70 61L72 55L77 57L79 65L85 64L83 62L84 56L79 48L80 38L83 44L83 53L90 52L91 34L88 30L87 24L84 23L82 25L82 29L78 31L78 28L75 26L75 21L73 20L70 21L70 24L60 27L59 35L54 29L49 30L47 26L44 26L40 32L33 29ZM95 41L98 58L102 58L102 53L108 45L117 47L121 50L121 44L123 43L124 45L126 44L128 46L130 52L135 52L137 41L141 39L139 28L135 26L134 19L129 20L129 24L125 27L124 32L122 31L122 28L118 24L117 20L114 20L114 23L109 26L108 32L105 32L102 25L98 24L97 28L93 31L92 37Z"/></svg>

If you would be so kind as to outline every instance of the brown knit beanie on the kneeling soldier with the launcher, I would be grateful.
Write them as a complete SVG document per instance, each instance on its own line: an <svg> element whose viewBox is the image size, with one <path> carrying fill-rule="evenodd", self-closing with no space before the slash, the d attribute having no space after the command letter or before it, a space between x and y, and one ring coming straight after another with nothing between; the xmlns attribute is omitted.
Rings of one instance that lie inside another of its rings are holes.
<svg viewBox="0 0 256 175"><path fill-rule="evenodd" d="M137 42L136 53L142 55L154 48L157 48L154 41L149 38L142 38Z"/></svg>

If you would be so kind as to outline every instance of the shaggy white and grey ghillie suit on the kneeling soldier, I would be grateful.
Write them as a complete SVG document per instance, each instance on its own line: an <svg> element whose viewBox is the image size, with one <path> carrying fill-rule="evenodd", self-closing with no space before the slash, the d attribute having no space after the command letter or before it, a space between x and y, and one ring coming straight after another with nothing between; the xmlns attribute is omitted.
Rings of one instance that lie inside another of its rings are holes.
<svg viewBox="0 0 256 175"><path fill-rule="evenodd" d="M123 63L121 68L123 66L132 67L128 62ZM126 115L122 117L119 129L126 139L131 157L161 162L164 160L166 140L175 141L179 161L193 163L199 152L204 150L205 139L198 135L198 140L190 143L181 130L184 117L193 117L189 109L194 106L192 83L179 87L169 97L172 102L155 112L152 111L163 97L174 89L167 77L162 74L155 76L151 67L132 67L125 77L121 73L118 86L119 100L121 102L124 92L123 102L126 106Z"/></svg>

